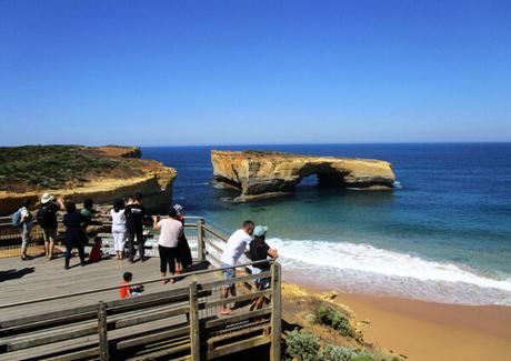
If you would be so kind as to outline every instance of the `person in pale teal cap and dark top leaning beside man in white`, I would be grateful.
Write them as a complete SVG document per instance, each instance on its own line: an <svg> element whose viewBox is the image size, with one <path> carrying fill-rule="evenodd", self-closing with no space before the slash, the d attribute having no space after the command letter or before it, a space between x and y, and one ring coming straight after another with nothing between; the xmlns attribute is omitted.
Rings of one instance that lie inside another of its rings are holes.
<svg viewBox="0 0 511 361"><path fill-rule="evenodd" d="M268 227L265 225L257 225L253 229L253 241L250 242L250 259L252 262L265 260L268 257L271 259L277 259L279 253L275 249L270 248L265 242L265 235L268 232ZM253 273L262 273L268 272L270 270L270 263L257 263L253 265ZM259 278L255 280L255 285L259 291L267 290L270 288L270 278ZM252 304L250 305L250 311L253 309L262 308L264 303L264 297L260 297L255 299Z"/></svg>

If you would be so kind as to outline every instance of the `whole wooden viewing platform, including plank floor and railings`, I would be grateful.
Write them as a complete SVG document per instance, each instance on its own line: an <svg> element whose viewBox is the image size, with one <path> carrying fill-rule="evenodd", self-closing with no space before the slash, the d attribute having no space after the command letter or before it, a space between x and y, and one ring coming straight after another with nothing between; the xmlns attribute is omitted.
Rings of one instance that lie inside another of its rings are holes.
<svg viewBox="0 0 511 361"><path fill-rule="evenodd" d="M244 255L234 280L223 280L219 259L227 232L201 218L188 218L186 234L194 258L191 272L161 283L156 239L149 237L146 262L103 259L63 270L63 257L0 259L0 359L2 360L210 360L249 349L280 360L281 274L251 272ZM109 234L100 233L104 250ZM33 245L36 247L36 245ZM0 250L1 251L1 250ZM13 252L12 247L10 251ZM120 299L123 272L141 283L141 297ZM270 289L258 290L257 278ZM236 283L230 315L220 315L221 290ZM264 297L259 310L252 300Z"/></svg>

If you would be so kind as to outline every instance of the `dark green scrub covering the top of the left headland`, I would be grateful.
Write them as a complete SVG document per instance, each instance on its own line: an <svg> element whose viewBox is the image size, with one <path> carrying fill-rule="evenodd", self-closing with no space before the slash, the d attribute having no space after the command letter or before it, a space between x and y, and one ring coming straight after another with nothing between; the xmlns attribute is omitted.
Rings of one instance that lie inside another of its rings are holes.
<svg viewBox="0 0 511 361"><path fill-rule="evenodd" d="M81 146L0 147L0 190L58 189L127 170L128 161ZM130 167L132 168L132 167Z"/></svg>

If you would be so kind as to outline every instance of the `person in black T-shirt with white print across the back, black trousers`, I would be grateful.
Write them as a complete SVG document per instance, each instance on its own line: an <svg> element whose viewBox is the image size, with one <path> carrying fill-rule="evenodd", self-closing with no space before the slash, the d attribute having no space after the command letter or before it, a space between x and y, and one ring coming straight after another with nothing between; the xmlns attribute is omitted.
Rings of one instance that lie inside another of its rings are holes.
<svg viewBox="0 0 511 361"><path fill-rule="evenodd" d="M129 261L133 263L137 251L134 250L134 239L139 244L139 257L142 262L144 258L144 240L143 240L143 218L146 215L146 208L142 205L142 194L134 194L134 200L124 209L126 224L128 231L128 249Z"/></svg>

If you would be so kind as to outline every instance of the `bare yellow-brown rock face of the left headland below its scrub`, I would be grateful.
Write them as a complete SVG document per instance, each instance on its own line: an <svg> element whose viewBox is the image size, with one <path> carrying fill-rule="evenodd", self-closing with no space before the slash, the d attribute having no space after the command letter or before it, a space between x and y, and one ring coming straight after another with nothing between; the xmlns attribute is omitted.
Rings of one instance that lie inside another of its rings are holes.
<svg viewBox="0 0 511 361"><path fill-rule="evenodd" d="M1 182L0 179L0 215L11 214L23 199L30 199L32 204L37 204L43 192L76 202L91 198L98 204L110 204L116 198L126 199L134 192L141 192L149 210L168 210L172 199L172 183L178 174L173 168L140 159L141 151L136 147L82 147L80 156L83 154L94 161L93 168L86 172L90 176L87 179L84 176L71 177L58 188L12 180ZM59 162L54 172L59 173L66 167L64 161Z"/></svg>

